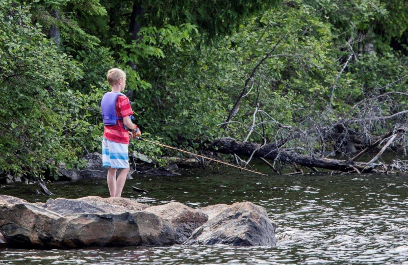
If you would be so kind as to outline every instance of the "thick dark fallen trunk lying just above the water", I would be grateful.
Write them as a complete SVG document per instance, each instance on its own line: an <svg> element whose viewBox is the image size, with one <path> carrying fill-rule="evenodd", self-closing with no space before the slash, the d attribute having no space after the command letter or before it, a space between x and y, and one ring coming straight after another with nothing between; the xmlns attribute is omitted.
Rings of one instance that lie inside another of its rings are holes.
<svg viewBox="0 0 408 265"><path fill-rule="evenodd" d="M391 131L382 137L382 141L375 142L371 147L377 146L380 142L386 140L387 143L381 150L372 158L368 163L356 162L356 158L353 157L349 160L338 160L333 158L326 158L323 156L313 155L313 154L300 154L296 151L282 150L276 147L275 144L264 144L259 145L256 143L249 142L239 142L233 138L220 138L213 141L212 149L213 151L224 153L224 154L236 154L249 157L260 158L274 171L274 167L268 162L274 161L282 164L294 165L296 168L295 174L302 174L303 171L297 166L306 167L317 172L316 168L340 171L347 173L370 173L370 172L390 172L392 169L405 169L406 167L401 167L398 164L390 163L390 165L385 165L383 163L374 163L378 160L381 154L400 136L406 132L406 128L401 127ZM370 148L367 148L369 150ZM363 153L367 151L364 150ZM362 154L359 154L360 157ZM378 170L377 170L378 168Z"/></svg>

